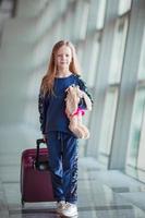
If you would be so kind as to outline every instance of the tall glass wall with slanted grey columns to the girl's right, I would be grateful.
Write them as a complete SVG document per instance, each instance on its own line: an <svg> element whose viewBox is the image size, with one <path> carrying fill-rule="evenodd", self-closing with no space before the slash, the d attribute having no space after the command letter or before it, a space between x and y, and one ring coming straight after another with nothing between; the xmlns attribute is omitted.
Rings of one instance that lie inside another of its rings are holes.
<svg viewBox="0 0 145 218"><path fill-rule="evenodd" d="M143 1L89 1L82 64L95 102L86 155L113 169L145 170L144 12Z"/></svg>

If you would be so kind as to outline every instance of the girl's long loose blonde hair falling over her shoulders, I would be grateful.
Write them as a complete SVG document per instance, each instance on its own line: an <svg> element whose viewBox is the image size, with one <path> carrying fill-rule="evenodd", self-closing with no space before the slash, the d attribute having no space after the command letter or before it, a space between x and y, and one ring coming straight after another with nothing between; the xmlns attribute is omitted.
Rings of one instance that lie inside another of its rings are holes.
<svg viewBox="0 0 145 218"><path fill-rule="evenodd" d="M77 74L77 75L81 74L81 68L77 61L76 51L72 43L65 41L65 40L58 41L52 48L48 70L46 72L46 75L41 80L40 89L44 94L46 93L53 94L53 82L57 75L57 64L55 61L55 56L58 52L59 48L62 46L68 46L72 51L72 61L70 63L69 70L73 74Z"/></svg>

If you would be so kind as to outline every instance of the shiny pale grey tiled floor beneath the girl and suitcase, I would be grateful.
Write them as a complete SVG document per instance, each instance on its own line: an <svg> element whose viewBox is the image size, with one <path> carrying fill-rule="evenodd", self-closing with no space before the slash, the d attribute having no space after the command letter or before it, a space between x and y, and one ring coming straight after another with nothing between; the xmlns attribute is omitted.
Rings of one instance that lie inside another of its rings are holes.
<svg viewBox="0 0 145 218"><path fill-rule="evenodd" d="M23 146L19 146L16 140L14 147L11 144L11 138L7 138L9 149L4 146L0 149L0 218L59 217L55 203L26 203L22 208L20 159ZM102 170L94 159L83 158L80 159L77 206L78 218L145 218L145 184L120 171Z"/></svg>

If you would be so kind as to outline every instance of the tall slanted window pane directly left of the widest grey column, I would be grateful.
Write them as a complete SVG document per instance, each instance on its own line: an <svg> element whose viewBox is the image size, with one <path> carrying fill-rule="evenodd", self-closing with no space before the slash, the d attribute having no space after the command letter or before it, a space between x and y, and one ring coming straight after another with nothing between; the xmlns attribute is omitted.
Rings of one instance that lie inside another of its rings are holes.
<svg viewBox="0 0 145 218"><path fill-rule="evenodd" d="M106 90L104 113L101 120L101 131L99 138L99 160L106 166L108 165L112 144L126 31L128 16L117 19L114 25L111 57L109 62L108 88Z"/></svg>

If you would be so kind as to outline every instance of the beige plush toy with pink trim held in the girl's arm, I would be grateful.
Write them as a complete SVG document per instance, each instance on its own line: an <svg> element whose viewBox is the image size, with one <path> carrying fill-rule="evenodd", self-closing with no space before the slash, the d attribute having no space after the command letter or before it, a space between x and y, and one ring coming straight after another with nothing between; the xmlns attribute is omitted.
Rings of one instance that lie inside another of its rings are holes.
<svg viewBox="0 0 145 218"><path fill-rule="evenodd" d="M77 138L86 140L89 137L89 131L82 121L82 117L85 114L85 110L78 106L82 98L86 105L85 110L92 110L92 101L85 92L75 85L67 88L65 113L70 120L69 129Z"/></svg>

